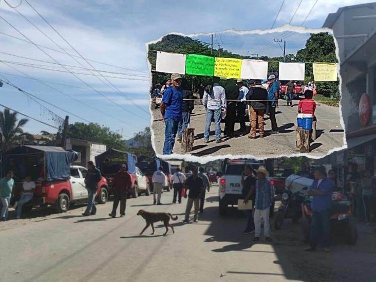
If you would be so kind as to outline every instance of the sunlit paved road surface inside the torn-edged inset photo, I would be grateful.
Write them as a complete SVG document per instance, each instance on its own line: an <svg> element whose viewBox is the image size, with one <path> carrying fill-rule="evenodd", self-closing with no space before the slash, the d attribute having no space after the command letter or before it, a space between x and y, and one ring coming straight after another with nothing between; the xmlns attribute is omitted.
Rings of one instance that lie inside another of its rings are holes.
<svg viewBox="0 0 376 282"><path fill-rule="evenodd" d="M203 143L203 131L205 127L205 109L201 105L196 105L194 115L191 117L191 127L195 128L195 143L191 154L193 156L245 156L248 157L277 157L280 155L291 156L299 153L295 146L295 124L297 115L297 101L294 101L293 107L287 107L286 101L279 101L277 114L277 123L281 128L277 135L268 136L263 139L250 140L248 135L238 135L235 138L225 138L225 142L216 144L214 142L214 124L211 127L210 142ZM158 154L162 154L164 142L164 123L160 120L159 109L153 109L153 129L154 144ZM317 134L318 138L311 144L311 156L323 157L336 147L343 146L344 130L340 123L340 110L338 107L332 107L317 103ZM249 132L249 122L247 132ZM222 124L222 130L224 124ZM239 124L235 124L235 130L239 129ZM266 130L270 130L270 121L266 120ZM181 153L181 146L176 143L174 153Z"/></svg>

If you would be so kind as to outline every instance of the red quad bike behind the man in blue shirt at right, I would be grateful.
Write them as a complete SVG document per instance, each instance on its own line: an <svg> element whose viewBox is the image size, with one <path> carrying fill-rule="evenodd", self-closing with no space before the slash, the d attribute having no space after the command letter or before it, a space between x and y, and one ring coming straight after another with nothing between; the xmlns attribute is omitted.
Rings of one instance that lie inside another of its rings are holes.
<svg viewBox="0 0 376 282"><path fill-rule="evenodd" d="M333 237L345 236L347 243L355 245L358 240L358 229L352 218L352 198L344 196L341 192L332 193L332 208L330 216L330 231ZM302 212L305 218L303 223L303 240L308 243L311 234L311 198L307 196L302 204Z"/></svg>

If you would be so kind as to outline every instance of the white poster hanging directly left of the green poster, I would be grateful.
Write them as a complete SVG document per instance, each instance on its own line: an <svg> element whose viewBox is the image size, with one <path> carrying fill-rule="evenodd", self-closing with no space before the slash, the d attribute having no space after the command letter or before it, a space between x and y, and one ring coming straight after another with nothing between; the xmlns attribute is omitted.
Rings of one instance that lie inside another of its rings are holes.
<svg viewBox="0 0 376 282"><path fill-rule="evenodd" d="M185 74L185 54L157 52L156 71Z"/></svg>

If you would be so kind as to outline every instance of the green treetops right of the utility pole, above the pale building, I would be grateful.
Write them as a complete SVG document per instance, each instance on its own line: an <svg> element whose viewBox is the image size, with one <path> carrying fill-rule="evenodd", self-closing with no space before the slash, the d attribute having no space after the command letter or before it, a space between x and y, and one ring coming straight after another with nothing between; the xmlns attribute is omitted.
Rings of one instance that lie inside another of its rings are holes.
<svg viewBox="0 0 376 282"><path fill-rule="evenodd" d="M126 147L122 136L110 130L109 127L99 125L98 123L76 122L70 124L67 131L68 138L77 138L105 144L111 148L125 150Z"/></svg>

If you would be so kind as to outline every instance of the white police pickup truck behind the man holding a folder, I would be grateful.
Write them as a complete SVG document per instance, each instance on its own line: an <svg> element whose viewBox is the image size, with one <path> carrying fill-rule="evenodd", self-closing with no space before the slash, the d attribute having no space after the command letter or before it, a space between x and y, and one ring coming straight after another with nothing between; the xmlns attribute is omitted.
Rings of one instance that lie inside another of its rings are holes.
<svg viewBox="0 0 376 282"><path fill-rule="evenodd" d="M265 165L265 161L252 159L225 159L222 163L223 174L219 177L219 214L227 213L228 205L237 205L238 199L241 199L243 187L240 184L241 173L244 171L246 164L252 165L253 170L257 170L260 165ZM274 204L271 211L274 211Z"/></svg>

